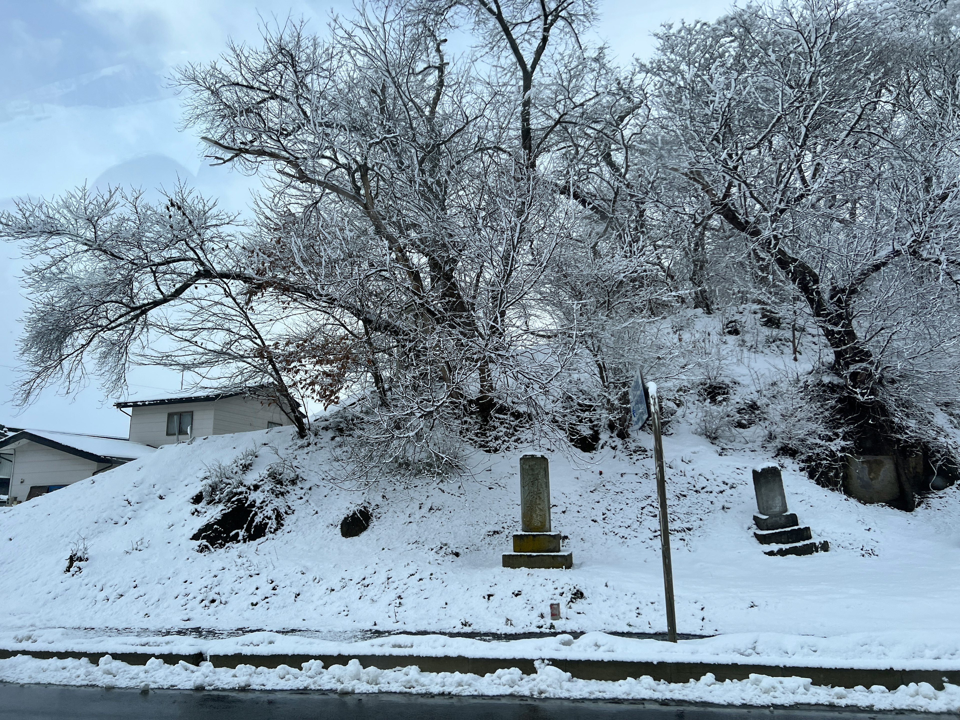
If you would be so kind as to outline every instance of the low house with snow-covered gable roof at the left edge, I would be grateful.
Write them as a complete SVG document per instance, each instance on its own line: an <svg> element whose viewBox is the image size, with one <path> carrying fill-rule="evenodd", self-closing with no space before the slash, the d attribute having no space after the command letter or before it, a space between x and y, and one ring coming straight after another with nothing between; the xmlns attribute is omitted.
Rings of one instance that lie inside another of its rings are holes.
<svg viewBox="0 0 960 720"><path fill-rule="evenodd" d="M10 473L8 503L15 505L60 490L154 451L123 438L20 430L0 440L2 464Z"/></svg>

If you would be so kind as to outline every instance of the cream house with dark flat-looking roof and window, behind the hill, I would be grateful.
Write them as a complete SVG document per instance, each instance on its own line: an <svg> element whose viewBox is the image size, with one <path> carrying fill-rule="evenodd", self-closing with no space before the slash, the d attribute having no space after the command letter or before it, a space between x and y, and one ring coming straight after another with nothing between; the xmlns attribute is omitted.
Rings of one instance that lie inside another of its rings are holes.
<svg viewBox="0 0 960 720"><path fill-rule="evenodd" d="M116 407L130 409L131 442L152 447L293 424L276 400L241 392L128 400Z"/></svg>

